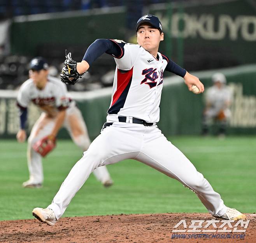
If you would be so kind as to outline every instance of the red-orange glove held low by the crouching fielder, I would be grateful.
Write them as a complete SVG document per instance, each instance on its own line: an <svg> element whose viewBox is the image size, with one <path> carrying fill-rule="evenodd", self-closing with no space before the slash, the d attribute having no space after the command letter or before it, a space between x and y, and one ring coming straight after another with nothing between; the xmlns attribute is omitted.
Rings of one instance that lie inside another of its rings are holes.
<svg viewBox="0 0 256 243"><path fill-rule="evenodd" d="M33 150L40 153L42 157L45 157L49 152L51 152L56 147L56 138L50 138L46 136L41 140L37 141L33 145Z"/></svg>

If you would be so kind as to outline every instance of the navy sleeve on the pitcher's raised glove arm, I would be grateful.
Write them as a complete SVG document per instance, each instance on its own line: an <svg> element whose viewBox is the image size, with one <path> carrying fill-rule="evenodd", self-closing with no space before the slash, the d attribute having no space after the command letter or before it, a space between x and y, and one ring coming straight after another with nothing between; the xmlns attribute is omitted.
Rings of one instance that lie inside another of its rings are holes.
<svg viewBox="0 0 256 243"><path fill-rule="evenodd" d="M93 63L103 53L119 57L121 52L122 49L113 41L107 39L97 39L88 47L82 60L85 60L89 65L91 65L91 63Z"/></svg>

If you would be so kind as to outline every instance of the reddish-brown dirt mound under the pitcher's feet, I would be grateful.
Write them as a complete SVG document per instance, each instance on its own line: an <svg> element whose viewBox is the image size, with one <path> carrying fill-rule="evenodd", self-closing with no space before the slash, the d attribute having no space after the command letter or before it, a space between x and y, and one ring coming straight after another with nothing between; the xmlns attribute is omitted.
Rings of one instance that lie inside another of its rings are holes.
<svg viewBox="0 0 256 243"><path fill-rule="evenodd" d="M213 225L203 228L207 224L206 220L212 219L210 214L120 214L66 217L61 218L53 227L36 219L0 221L0 242L241 242L241 237L243 243L256 242L255 214L247 214L247 220L250 220L247 229L244 228L245 224L243 227L241 224L237 226L236 230L246 230L245 233L218 232L225 230L225 227L226 230L234 231L237 223L231 222L231 227L229 225L220 227L223 224L221 221L216 222L216 233L202 233L203 229L214 230ZM184 224L174 228L181 220L186 223L187 228L184 228ZM202 228L199 229L200 233L173 232L173 230L193 230L189 227L191 220L203 221ZM192 234L194 236L191 236ZM186 237L186 239L174 239L172 238L174 236Z"/></svg>

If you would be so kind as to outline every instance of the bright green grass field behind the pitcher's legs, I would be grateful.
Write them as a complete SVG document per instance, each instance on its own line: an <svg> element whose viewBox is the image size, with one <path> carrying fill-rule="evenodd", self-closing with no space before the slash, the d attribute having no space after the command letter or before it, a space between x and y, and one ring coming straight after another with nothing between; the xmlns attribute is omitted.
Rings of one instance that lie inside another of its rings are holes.
<svg viewBox="0 0 256 243"><path fill-rule="evenodd" d="M193 162L228 207L255 212L256 139L173 137L170 141ZM34 207L47 207L82 152L70 140L58 141L44 160L44 187L22 188L28 179L26 144L0 140L0 220L31 219ZM91 175L75 195L64 217L107 214L207 212L200 200L174 179L134 160L108 169L110 188Z"/></svg>

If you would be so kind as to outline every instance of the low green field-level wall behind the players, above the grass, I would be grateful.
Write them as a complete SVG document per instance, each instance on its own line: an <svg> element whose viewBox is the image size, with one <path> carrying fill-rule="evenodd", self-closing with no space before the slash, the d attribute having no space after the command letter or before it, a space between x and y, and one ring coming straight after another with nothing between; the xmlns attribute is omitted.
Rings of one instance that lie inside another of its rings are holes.
<svg viewBox="0 0 256 243"><path fill-rule="evenodd" d="M226 75L228 85L233 90L230 134L256 134L256 64L240 67L195 72L205 88L211 85L211 76L216 71ZM188 91L179 76L164 79L158 127L167 136L173 134L200 134L203 111L203 94L195 95ZM81 109L91 139L95 138L105 122L112 88L88 92L70 92ZM19 129L17 91L0 91L0 136L14 138ZM30 105L28 130L39 117L40 111ZM60 137L68 137L61 131Z"/></svg>

